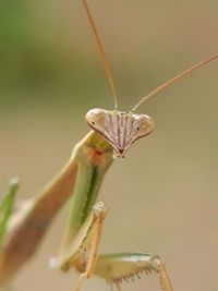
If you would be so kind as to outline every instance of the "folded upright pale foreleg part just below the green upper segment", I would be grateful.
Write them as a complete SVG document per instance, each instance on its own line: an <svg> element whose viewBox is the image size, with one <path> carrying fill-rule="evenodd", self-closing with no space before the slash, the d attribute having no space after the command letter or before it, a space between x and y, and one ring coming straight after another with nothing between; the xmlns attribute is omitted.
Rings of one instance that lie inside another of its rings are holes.
<svg viewBox="0 0 218 291"><path fill-rule="evenodd" d="M62 250L58 259L51 260L51 267L58 267L63 271L68 271L71 267L78 270L81 277L76 284L76 291L81 289L83 280L85 278L89 279L94 274L106 215L105 204L102 202L95 204L72 244Z"/></svg>

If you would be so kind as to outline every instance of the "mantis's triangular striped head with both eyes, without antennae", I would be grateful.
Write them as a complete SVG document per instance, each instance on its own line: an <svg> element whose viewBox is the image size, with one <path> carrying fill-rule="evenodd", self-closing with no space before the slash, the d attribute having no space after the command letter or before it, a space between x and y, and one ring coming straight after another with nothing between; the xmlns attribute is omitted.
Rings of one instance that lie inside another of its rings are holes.
<svg viewBox="0 0 218 291"><path fill-rule="evenodd" d="M112 145L117 157L124 157L135 141L148 135L154 129L150 117L117 109L90 109L86 114L86 121Z"/></svg>

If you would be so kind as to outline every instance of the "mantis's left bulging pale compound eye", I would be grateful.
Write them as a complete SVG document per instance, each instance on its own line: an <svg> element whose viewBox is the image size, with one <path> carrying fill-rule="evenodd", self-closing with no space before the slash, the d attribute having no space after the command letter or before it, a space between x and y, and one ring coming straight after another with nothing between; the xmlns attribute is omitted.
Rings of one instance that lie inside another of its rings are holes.
<svg viewBox="0 0 218 291"><path fill-rule="evenodd" d="M86 121L92 129L104 133L107 122L107 111L100 108L90 109L86 113Z"/></svg>

